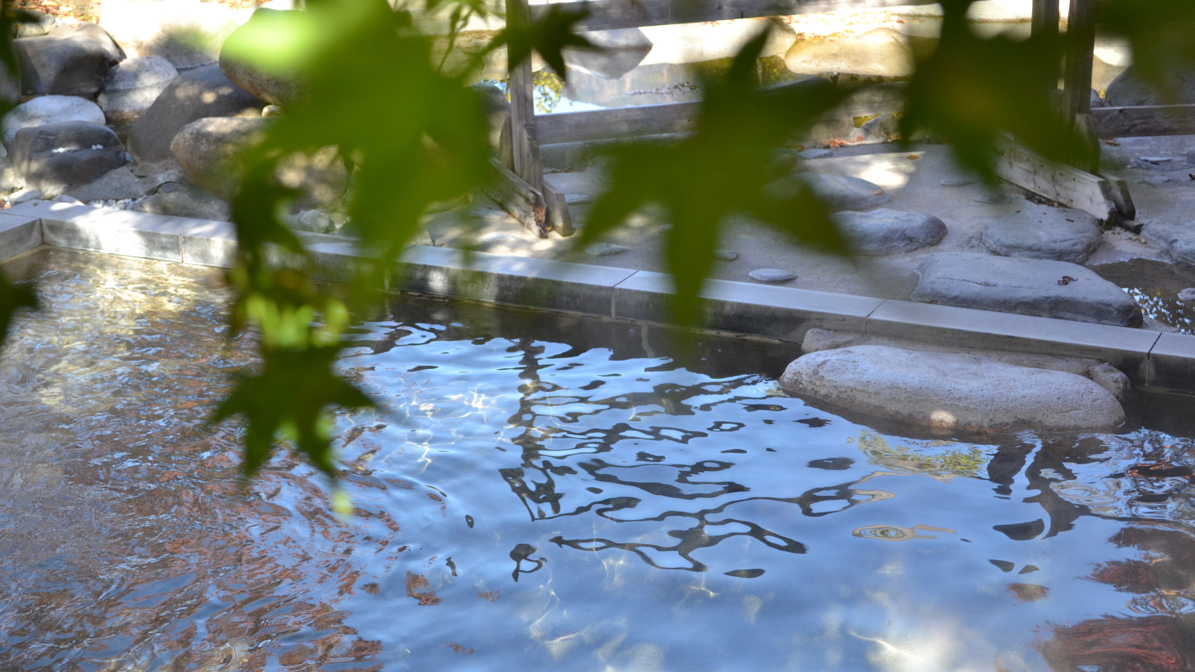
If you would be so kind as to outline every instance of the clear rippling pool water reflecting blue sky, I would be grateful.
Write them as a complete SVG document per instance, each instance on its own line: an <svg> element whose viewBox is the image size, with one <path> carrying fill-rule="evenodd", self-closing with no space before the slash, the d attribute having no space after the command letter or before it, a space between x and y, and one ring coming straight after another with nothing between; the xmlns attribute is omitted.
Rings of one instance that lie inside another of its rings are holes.
<svg viewBox="0 0 1195 672"><path fill-rule="evenodd" d="M1185 438L905 436L749 339L393 298L355 514L208 427L219 275L42 251L0 359L4 670L1189 670ZM705 337L703 337L705 338ZM721 352L719 352L721 351ZM703 359L704 358L704 359ZM878 425L877 425L878 426Z"/></svg>

